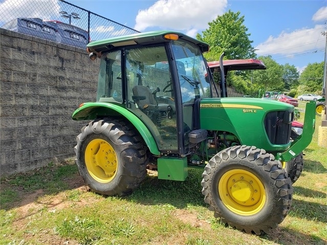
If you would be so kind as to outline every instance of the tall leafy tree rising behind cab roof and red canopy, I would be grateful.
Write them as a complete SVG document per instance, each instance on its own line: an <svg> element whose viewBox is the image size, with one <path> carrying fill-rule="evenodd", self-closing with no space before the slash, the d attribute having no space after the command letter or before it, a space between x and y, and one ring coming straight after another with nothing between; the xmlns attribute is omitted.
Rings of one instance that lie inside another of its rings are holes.
<svg viewBox="0 0 327 245"><path fill-rule="evenodd" d="M254 58L254 48L251 46L251 34L247 33L244 16L239 17L237 13L229 10L221 16L217 16L209 22L209 28L197 34L197 39L207 42L210 51L205 54L208 61L219 60L221 54L225 53L225 59L249 59Z"/></svg>

